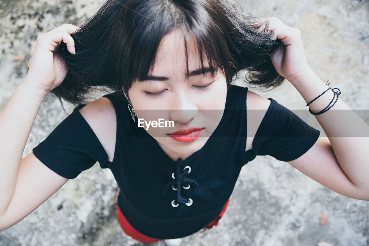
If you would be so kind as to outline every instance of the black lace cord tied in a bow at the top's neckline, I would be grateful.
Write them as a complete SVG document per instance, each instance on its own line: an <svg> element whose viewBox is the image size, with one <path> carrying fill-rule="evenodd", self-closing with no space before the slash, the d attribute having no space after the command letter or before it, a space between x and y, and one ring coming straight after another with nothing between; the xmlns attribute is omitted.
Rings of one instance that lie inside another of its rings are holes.
<svg viewBox="0 0 369 246"><path fill-rule="evenodd" d="M182 159L179 159L179 160L182 160ZM185 204L189 200L188 198L183 198L180 194L182 185L183 184L196 184L197 186L199 186L199 184L193 179L186 177L189 174L188 172L189 170L187 168L185 168L183 172L181 172L181 163L182 161L177 161L175 172L174 172L175 180L172 179L168 183L166 183L166 185L164 185L161 195L162 196L165 195L166 192L168 192L168 189L176 184L177 185L177 201L181 204Z"/></svg>

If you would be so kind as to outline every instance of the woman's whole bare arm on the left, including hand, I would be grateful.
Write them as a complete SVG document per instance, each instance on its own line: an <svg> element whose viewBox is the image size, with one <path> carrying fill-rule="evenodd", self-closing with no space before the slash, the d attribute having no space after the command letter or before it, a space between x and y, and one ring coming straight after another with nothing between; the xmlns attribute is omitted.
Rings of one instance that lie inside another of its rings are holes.
<svg viewBox="0 0 369 246"><path fill-rule="evenodd" d="M0 230L23 219L67 181L33 154L21 158L41 103L68 72L54 52L62 41L74 52L70 34L76 29L64 24L37 38L27 76L0 115Z"/></svg>

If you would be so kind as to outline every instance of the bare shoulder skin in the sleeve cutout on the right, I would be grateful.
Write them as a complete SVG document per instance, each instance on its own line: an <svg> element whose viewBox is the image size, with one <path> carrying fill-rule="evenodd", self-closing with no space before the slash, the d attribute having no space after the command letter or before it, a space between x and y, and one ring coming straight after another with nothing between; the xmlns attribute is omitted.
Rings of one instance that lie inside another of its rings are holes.
<svg viewBox="0 0 369 246"><path fill-rule="evenodd" d="M254 141L256 131L259 129L270 102L269 99L263 98L250 90L247 91L247 138L245 151L252 149L252 141Z"/></svg>

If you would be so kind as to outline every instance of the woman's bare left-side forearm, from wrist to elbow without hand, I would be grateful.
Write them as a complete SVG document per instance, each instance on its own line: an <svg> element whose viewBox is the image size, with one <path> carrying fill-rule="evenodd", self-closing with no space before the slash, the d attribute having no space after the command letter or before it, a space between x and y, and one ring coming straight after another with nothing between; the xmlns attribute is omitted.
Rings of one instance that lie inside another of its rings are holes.
<svg viewBox="0 0 369 246"><path fill-rule="evenodd" d="M22 153L45 96L25 79L0 116L0 216L13 196Z"/></svg>

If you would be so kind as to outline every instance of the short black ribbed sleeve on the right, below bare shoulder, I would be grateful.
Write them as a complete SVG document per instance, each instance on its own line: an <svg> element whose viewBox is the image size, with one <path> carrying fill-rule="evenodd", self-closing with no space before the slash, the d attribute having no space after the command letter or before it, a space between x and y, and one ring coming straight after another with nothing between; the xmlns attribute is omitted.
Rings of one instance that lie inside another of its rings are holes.
<svg viewBox="0 0 369 246"><path fill-rule="evenodd" d="M249 161L257 155L270 155L280 161L295 160L314 145L320 131L274 99L268 99L271 103L256 131Z"/></svg>

